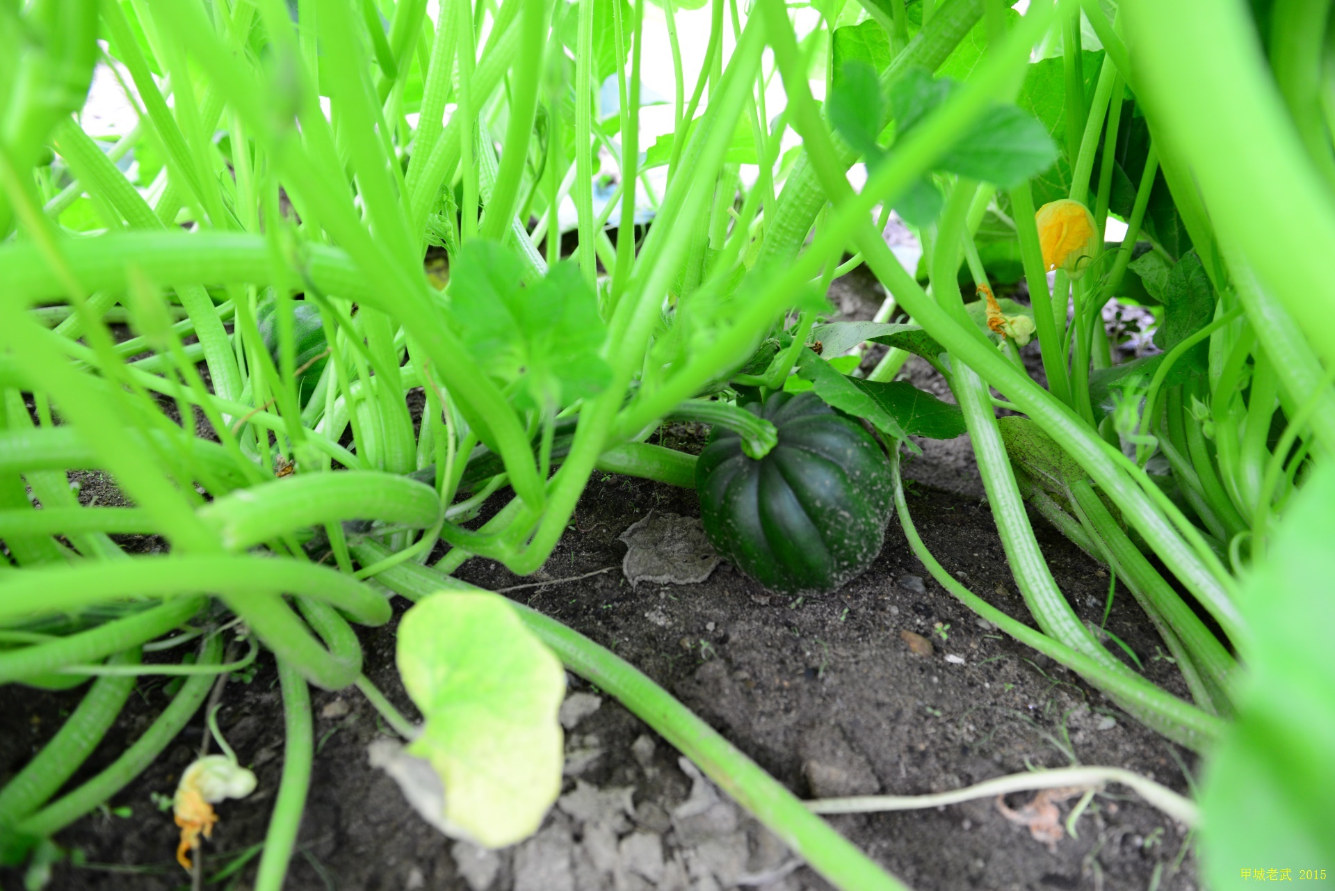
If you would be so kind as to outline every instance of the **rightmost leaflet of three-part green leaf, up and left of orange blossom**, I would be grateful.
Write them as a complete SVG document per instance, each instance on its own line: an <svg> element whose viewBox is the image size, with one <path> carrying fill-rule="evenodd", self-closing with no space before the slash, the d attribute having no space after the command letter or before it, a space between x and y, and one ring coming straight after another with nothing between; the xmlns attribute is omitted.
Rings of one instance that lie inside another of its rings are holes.
<svg viewBox="0 0 1335 891"><path fill-rule="evenodd" d="M993 106L947 152L940 167L1009 188L1048 170L1056 159L1056 144L1032 115L1015 106Z"/></svg>

